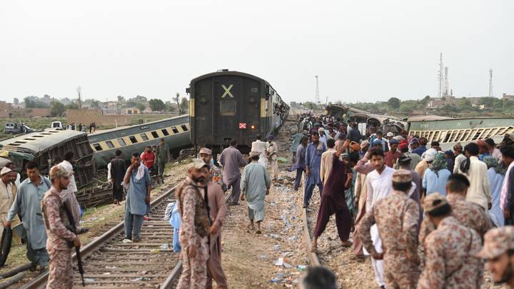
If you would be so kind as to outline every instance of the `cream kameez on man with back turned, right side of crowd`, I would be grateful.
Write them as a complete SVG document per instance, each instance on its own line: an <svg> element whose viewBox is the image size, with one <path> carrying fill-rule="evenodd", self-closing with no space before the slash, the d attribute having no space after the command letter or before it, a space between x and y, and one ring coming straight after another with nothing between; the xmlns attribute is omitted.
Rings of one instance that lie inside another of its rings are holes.
<svg viewBox="0 0 514 289"><path fill-rule="evenodd" d="M466 201L477 204L485 211L488 211L488 203L491 202L487 170L487 165L483 161L472 156L468 173L464 174L470 181Z"/></svg>

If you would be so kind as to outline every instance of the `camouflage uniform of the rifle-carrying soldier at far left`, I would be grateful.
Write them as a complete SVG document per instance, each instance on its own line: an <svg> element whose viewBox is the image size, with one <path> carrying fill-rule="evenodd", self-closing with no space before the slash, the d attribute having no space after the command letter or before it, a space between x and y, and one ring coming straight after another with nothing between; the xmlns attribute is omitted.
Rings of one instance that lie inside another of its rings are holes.
<svg viewBox="0 0 514 289"><path fill-rule="evenodd" d="M61 193L52 186L41 201L46 226L46 250L50 255L49 279L46 288L72 288L73 268L69 241L76 235L66 228L70 221L64 211Z"/></svg>

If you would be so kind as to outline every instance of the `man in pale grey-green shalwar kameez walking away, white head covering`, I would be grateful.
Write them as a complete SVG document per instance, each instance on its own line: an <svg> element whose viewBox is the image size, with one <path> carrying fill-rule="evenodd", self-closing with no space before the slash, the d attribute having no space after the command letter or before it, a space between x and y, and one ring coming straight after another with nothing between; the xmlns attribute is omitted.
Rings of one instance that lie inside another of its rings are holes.
<svg viewBox="0 0 514 289"><path fill-rule="evenodd" d="M256 233L261 233L261 222L264 219L264 198L269 193L271 179L266 168L258 163L260 154L250 152L251 163L246 165L241 177L241 201L246 198L248 206L249 228L253 230L253 222L257 223Z"/></svg>

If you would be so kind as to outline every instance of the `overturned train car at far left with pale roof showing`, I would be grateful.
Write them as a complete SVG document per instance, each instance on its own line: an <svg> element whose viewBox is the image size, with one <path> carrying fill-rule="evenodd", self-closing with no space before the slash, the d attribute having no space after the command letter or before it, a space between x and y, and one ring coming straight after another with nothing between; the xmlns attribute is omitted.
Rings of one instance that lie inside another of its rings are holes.
<svg viewBox="0 0 514 289"><path fill-rule="evenodd" d="M93 151L86 133L49 128L0 141L0 156L16 164L22 179L26 178L25 166L29 161L39 163L41 174L48 176L54 158L64 156L67 151L75 153L74 176L77 186L86 186L94 177Z"/></svg>

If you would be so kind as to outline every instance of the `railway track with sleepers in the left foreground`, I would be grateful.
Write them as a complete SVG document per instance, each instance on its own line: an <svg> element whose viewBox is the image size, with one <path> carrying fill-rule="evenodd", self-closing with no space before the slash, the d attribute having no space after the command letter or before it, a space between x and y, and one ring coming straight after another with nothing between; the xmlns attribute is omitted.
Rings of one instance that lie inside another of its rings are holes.
<svg viewBox="0 0 514 289"><path fill-rule="evenodd" d="M143 221L141 241L122 243L124 222L120 222L81 248L86 288L172 288L181 273L179 254L173 253L173 229L162 220L171 188L151 202L151 218ZM74 286L81 288L81 278L74 264ZM17 288L42 288L48 273L42 273Z"/></svg>

